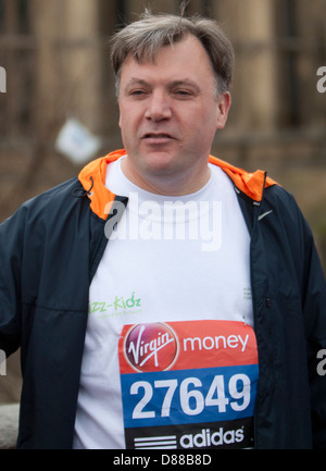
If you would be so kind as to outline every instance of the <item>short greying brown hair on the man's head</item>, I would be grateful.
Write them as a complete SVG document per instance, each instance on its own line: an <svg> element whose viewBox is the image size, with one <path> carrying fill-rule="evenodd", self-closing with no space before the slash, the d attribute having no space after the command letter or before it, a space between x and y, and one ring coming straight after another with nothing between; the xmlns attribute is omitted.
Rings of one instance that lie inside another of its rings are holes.
<svg viewBox="0 0 326 471"><path fill-rule="evenodd" d="M111 60L120 85L121 70L127 55L153 62L159 50L187 36L197 37L206 50L214 75L217 95L227 91L231 84L235 62L234 48L217 22L201 16L154 15L149 11L140 20L125 26L111 40Z"/></svg>

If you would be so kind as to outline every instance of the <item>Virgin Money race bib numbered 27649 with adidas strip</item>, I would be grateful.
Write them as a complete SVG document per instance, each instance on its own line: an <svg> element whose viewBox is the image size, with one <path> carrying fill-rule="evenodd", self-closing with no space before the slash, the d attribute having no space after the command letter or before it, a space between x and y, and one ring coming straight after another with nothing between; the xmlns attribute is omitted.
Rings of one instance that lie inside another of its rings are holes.
<svg viewBox="0 0 326 471"><path fill-rule="evenodd" d="M125 325L118 358L126 448L253 446L259 364L249 325Z"/></svg>

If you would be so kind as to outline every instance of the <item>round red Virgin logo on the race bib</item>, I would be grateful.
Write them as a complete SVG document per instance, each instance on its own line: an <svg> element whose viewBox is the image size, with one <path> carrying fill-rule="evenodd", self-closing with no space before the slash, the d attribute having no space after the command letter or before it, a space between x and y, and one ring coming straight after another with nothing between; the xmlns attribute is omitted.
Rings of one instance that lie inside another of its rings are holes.
<svg viewBox="0 0 326 471"><path fill-rule="evenodd" d="M127 361L138 372L168 370L178 357L178 339L171 327L162 323L138 324L125 339Z"/></svg>

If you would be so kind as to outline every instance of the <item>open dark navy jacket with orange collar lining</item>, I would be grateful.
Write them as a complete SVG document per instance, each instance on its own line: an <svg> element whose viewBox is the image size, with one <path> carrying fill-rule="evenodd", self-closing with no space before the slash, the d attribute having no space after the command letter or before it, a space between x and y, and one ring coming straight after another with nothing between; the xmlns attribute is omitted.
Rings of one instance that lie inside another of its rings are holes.
<svg viewBox="0 0 326 471"><path fill-rule="evenodd" d="M112 201L127 204L105 189L105 168L123 153L92 162L0 225L0 349L21 347L24 379L18 448L72 448L89 285L108 244L108 213L118 220ZM263 172L211 162L235 183L251 234L254 445L325 448L317 355L326 349L326 285L312 233L292 196Z"/></svg>

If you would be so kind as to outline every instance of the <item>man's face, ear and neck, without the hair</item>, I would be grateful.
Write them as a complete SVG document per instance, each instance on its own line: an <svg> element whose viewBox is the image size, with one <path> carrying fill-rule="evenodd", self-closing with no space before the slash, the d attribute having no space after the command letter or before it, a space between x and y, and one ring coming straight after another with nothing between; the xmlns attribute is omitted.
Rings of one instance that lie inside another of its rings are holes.
<svg viewBox="0 0 326 471"><path fill-rule="evenodd" d="M217 98L210 58L193 36L162 48L154 63L127 57L118 97L126 175L145 189L187 179L204 185L212 141L229 103L229 94ZM196 190L193 184L183 186L183 194Z"/></svg>

